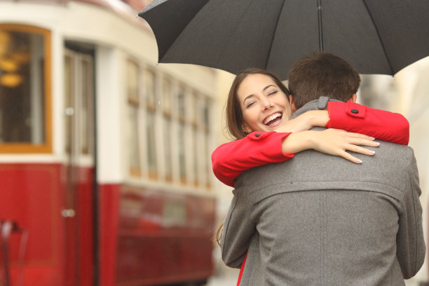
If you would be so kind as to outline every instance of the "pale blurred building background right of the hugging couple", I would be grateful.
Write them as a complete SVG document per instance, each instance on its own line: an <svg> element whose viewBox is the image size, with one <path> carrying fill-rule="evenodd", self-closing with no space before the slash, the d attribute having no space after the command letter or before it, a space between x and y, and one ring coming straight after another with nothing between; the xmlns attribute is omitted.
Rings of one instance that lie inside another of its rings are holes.
<svg viewBox="0 0 429 286"><path fill-rule="evenodd" d="M405 67L395 76L362 76L360 103L369 107L386 109L404 115L409 121L409 146L416 155L423 206L423 231L428 245L428 163L429 154L429 57ZM426 250L426 252L428 252ZM428 283L428 259L417 275L407 285ZM424 284L427 285L427 284Z"/></svg>

